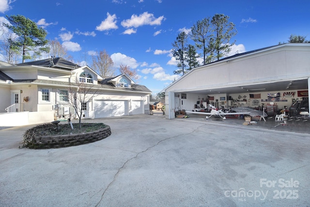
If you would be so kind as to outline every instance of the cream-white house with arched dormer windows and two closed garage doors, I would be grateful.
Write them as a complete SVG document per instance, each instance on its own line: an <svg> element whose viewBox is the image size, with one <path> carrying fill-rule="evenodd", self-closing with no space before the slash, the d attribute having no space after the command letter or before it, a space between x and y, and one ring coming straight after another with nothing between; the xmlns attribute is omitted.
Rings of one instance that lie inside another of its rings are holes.
<svg viewBox="0 0 310 207"><path fill-rule="evenodd" d="M101 77L88 66L62 58L22 64L0 63L0 126L22 126L65 119L74 109L68 104L71 88L83 82L95 93L80 103L83 118L103 118L149 113L147 87L126 74ZM81 94L81 92L80 92Z"/></svg>

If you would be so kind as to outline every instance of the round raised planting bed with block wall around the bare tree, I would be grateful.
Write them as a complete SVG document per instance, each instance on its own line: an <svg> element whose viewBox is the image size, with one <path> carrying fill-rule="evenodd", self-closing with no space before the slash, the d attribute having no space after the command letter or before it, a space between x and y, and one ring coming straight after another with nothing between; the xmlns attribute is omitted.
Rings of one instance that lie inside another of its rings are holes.
<svg viewBox="0 0 310 207"><path fill-rule="evenodd" d="M43 124L28 129L23 135L23 145L20 148L50 149L77 146L93 143L107 138L111 129L103 123L84 123L81 128L78 124Z"/></svg>

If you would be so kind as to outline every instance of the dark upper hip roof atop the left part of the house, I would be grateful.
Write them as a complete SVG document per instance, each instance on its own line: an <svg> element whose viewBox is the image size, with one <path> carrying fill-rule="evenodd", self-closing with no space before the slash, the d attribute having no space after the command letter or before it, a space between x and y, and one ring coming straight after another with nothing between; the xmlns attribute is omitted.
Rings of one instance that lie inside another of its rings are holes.
<svg viewBox="0 0 310 207"><path fill-rule="evenodd" d="M45 60L31 61L31 62L26 62L26 63L20 63L17 65L18 66L36 65L36 66L53 67L53 68L59 68L59 69L65 69L65 70L74 70L74 69L81 67L78 64L74 64L63 58L54 58L53 60L48 58Z"/></svg>

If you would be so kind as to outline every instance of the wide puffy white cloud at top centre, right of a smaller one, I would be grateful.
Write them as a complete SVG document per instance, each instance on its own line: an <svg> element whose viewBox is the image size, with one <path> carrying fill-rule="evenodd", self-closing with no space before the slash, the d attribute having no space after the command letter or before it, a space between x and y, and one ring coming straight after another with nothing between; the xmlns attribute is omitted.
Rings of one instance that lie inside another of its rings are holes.
<svg viewBox="0 0 310 207"><path fill-rule="evenodd" d="M153 14L144 12L139 16L132 15L130 19L123 20L121 22L121 25L125 28L130 27L137 28L143 25L160 25L164 19L165 19L164 16L159 16L158 18L155 18Z"/></svg>

